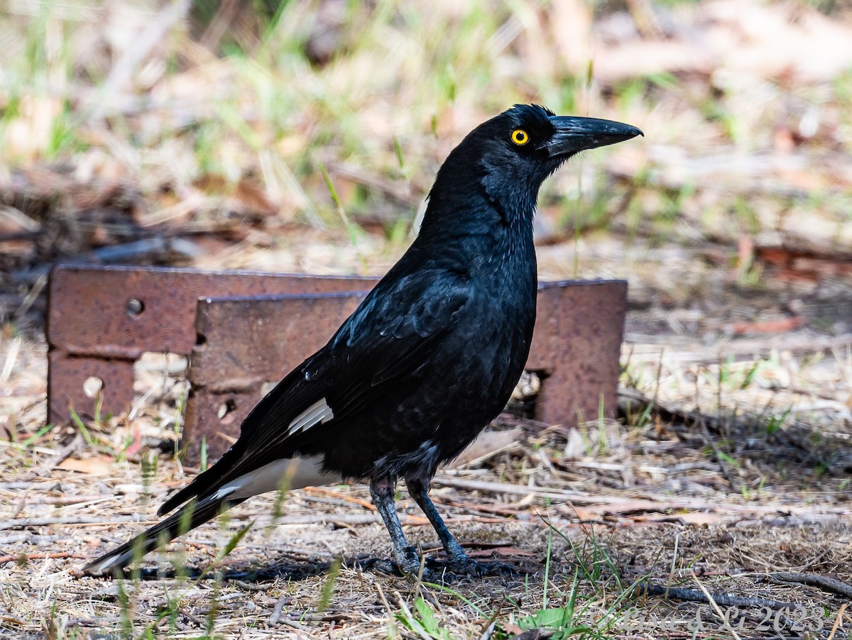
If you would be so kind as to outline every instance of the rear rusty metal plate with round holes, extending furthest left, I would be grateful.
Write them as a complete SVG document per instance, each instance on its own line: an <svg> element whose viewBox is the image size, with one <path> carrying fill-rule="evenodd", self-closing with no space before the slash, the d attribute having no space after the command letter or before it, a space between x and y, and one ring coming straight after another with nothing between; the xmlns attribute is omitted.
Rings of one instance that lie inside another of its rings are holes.
<svg viewBox="0 0 852 640"><path fill-rule="evenodd" d="M83 392L103 381L101 412L133 402L133 365L145 351L188 356L202 296L323 294L370 289L376 278L301 276L245 271L123 266L56 266L48 291L48 420L65 421L69 406L92 414Z"/></svg>

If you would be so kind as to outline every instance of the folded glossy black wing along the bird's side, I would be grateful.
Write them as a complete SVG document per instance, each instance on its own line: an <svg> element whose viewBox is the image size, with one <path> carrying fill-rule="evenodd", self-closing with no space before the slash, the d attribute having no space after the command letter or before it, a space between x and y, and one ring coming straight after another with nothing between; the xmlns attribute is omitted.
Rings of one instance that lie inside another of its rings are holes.
<svg viewBox="0 0 852 640"><path fill-rule="evenodd" d="M288 430L316 403L325 400L333 412L331 420L339 423L375 402L383 382L416 375L450 334L473 294L469 279L454 271L417 271L396 278L389 274L326 346L257 403L231 449L166 500L158 514L190 498L203 499L234 478L291 457L306 437L321 436L323 424L308 431Z"/></svg>

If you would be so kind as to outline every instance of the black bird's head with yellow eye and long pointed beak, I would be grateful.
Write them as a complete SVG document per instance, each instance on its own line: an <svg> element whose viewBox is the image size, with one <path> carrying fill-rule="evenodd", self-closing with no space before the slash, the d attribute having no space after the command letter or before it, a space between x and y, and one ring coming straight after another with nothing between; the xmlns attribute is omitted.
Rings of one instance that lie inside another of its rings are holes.
<svg viewBox="0 0 852 640"><path fill-rule="evenodd" d="M556 116L543 106L515 105L471 131L452 151L430 199L460 195L435 193L439 185L469 190L473 182L498 209L506 209L504 215L531 217L541 183L569 157L636 135L642 131L629 124Z"/></svg>

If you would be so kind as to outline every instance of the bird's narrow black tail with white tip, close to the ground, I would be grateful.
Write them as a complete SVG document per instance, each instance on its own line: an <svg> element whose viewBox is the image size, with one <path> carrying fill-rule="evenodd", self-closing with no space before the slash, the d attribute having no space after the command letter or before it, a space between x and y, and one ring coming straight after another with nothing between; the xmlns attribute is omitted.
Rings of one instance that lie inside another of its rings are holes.
<svg viewBox="0 0 852 640"><path fill-rule="evenodd" d="M141 558L148 551L153 551L158 546L163 546L178 535L195 529L200 524L206 523L210 518L216 517L222 511L227 511L232 506L239 505L245 500L227 500L216 497L216 494L207 496L203 500L191 500L172 515L155 524L151 529L143 531L135 536L133 540L125 542L109 553L98 557L85 567L83 573L89 575L112 574L127 567L134 558Z"/></svg>

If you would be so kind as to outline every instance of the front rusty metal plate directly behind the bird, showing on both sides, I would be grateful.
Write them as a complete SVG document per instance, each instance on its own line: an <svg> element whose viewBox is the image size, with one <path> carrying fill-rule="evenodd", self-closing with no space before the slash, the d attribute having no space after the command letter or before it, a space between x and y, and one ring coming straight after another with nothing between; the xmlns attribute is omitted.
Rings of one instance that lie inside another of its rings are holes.
<svg viewBox="0 0 852 640"><path fill-rule="evenodd" d="M277 381L325 345L363 293L199 300L183 445L199 461L204 440L215 460L239 437L239 425ZM527 370L544 378L536 418L576 425L615 413L627 283L541 283Z"/></svg>

